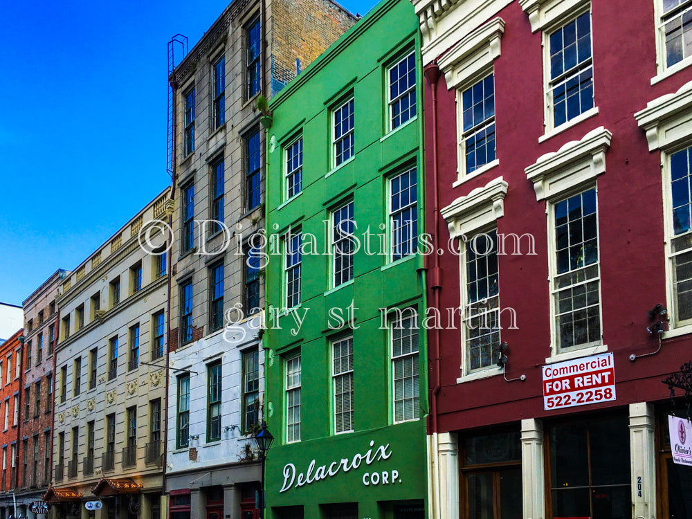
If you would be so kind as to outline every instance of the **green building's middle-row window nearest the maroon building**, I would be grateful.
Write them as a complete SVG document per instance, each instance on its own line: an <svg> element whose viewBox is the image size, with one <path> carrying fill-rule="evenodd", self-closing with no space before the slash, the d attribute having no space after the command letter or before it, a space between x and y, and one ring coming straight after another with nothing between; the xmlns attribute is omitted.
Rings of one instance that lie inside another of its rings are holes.
<svg viewBox="0 0 692 519"><path fill-rule="evenodd" d="M412 168L390 179L392 260L416 252L418 240L417 170Z"/></svg>

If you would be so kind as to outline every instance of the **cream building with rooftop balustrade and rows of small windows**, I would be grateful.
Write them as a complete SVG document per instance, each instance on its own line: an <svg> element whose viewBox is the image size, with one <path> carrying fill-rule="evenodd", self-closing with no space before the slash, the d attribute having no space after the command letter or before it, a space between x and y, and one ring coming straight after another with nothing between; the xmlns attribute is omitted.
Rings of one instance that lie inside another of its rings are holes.
<svg viewBox="0 0 692 519"><path fill-rule="evenodd" d="M62 283L55 348L54 517L159 519L163 499L167 255L140 239L167 221L170 189ZM149 233L165 246L167 231ZM145 243L142 246L141 243Z"/></svg>

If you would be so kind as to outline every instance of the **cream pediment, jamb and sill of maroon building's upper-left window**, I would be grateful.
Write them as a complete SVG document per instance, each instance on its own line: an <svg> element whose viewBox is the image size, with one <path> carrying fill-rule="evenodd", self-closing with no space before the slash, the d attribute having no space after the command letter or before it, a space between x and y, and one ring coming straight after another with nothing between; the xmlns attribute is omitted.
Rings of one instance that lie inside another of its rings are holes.
<svg viewBox="0 0 692 519"><path fill-rule="evenodd" d="M466 149L464 148L462 93L476 82L494 74L493 62L500 57L503 34L504 20L500 17L493 18L459 41L439 62L447 88L455 88L457 91L457 181L455 181L455 185L459 185L489 170L493 165L499 164L496 156L494 161L479 167L476 171L470 174L465 173ZM493 78L493 91L494 81ZM497 134L495 134L495 143L497 143Z"/></svg>

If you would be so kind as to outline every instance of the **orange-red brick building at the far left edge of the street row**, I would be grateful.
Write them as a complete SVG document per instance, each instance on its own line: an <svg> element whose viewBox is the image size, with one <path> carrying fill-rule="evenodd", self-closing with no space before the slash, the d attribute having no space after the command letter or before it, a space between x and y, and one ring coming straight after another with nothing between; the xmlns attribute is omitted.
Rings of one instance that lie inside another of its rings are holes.
<svg viewBox="0 0 692 519"><path fill-rule="evenodd" d="M23 334L24 329L20 329L0 344L0 519L14 513L12 493L21 485L17 471L21 367L17 370L16 366L17 358L21 362Z"/></svg>

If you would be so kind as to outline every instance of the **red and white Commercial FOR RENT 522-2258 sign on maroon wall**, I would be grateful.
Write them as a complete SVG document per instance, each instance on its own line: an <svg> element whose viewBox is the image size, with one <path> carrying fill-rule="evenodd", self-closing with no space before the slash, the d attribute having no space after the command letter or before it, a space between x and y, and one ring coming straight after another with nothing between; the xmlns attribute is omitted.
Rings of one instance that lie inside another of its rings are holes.
<svg viewBox="0 0 692 519"><path fill-rule="evenodd" d="M545 410L585 406L615 399L612 353L543 366Z"/></svg>

